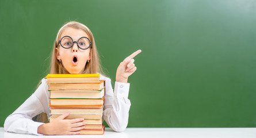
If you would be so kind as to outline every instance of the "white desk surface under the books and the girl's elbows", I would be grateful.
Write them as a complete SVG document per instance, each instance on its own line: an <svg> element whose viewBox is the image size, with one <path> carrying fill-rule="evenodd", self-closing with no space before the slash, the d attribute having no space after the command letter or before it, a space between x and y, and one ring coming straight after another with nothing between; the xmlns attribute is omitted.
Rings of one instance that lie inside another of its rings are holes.
<svg viewBox="0 0 256 138"><path fill-rule="evenodd" d="M30 137L174 137L174 138L255 138L256 128L127 128L124 132L114 132L110 128L105 129L104 135L59 135L59 136L36 136L9 133L0 127L0 137L2 138L30 138Z"/></svg>

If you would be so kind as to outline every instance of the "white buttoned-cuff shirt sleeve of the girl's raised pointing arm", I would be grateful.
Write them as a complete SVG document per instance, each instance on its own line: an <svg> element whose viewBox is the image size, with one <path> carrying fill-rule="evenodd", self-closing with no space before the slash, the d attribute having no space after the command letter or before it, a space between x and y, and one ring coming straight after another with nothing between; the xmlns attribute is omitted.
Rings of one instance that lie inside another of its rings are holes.
<svg viewBox="0 0 256 138"><path fill-rule="evenodd" d="M128 99L129 83L115 82L114 91L110 79L106 80L103 118L116 132L123 132L128 125L131 102Z"/></svg>

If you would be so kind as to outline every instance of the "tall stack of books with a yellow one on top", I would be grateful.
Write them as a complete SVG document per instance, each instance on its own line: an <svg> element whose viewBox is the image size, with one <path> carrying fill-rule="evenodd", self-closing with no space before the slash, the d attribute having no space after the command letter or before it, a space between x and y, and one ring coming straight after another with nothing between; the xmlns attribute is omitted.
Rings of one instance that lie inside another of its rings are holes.
<svg viewBox="0 0 256 138"><path fill-rule="evenodd" d="M102 114L105 81L100 74L48 74L51 122L66 112L65 119L85 118L87 124L80 134L104 134Z"/></svg>

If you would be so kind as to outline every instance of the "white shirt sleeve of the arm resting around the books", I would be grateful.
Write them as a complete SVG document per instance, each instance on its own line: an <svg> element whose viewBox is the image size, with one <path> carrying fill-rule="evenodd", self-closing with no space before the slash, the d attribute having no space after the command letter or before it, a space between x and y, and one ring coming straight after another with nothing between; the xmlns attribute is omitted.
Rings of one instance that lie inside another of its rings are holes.
<svg viewBox="0 0 256 138"><path fill-rule="evenodd" d="M16 109L12 114L10 114L10 116L6 118L4 124L5 131L41 135L37 133L37 128L44 123L33 121L32 118L37 114L45 112L44 106L47 103L42 103L40 101L41 98L45 97L37 96L45 95L43 93L45 93L45 89L47 89L46 87L47 84L43 80L35 93L26 99L26 101L18 109Z"/></svg>

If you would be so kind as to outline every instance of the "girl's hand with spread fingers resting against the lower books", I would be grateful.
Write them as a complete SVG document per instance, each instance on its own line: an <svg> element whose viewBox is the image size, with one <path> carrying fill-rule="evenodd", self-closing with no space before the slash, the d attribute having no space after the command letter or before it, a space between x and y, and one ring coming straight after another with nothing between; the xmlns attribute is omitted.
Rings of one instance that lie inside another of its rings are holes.
<svg viewBox="0 0 256 138"><path fill-rule="evenodd" d="M77 135L80 130L85 128L87 122L83 122L84 118L64 120L70 112L62 114L52 122L40 125L37 128L37 133L44 135Z"/></svg>

